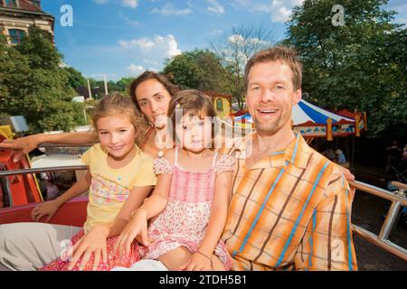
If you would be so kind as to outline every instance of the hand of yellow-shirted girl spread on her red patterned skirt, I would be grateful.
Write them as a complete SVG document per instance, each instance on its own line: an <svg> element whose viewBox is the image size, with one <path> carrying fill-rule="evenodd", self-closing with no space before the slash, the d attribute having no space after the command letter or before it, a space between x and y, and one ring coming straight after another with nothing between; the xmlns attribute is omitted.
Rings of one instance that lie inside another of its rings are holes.
<svg viewBox="0 0 407 289"><path fill-rule="evenodd" d="M103 226L92 228L85 236L72 247L72 260L68 266L68 270L71 270L82 256L79 270L81 271L84 266L88 264L90 256L95 254L93 258L92 271L98 269L100 256L104 263L108 263L107 242L108 237L107 229Z"/></svg>

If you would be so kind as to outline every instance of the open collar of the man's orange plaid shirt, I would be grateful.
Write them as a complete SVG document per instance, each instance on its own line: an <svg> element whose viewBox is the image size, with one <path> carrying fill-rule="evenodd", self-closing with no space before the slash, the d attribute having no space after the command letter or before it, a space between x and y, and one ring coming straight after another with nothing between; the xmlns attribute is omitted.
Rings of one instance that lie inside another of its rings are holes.
<svg viewBox="0 0 407 289"><path fill-rule="evenodd" d="M308 163L308 156L311 152L302 135L296 131L294 131L294 135L296 135L295 138L285 149L270 153L267 157L264 157L259 162L255 163L251 169L281 167L287 162L294 164L298 168L305 169ZM247 158L247 144L249 141L252 141L253 137L257 137L257 134L253 133L247 135L236 142L236 153L240 152L240 154L238 153L240 158Z"/></svg>

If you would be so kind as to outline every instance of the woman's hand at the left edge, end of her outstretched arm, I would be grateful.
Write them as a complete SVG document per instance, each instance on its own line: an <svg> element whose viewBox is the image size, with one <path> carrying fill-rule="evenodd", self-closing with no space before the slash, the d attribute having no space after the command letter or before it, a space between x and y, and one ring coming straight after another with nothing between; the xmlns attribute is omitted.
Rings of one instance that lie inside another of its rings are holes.
<svg viewBox="0 0 407 289"><path fill-rule="evenodd" d="M25 154L30 153L41 144L39 135L28 135L16 139L9 139L0 143L0 149L14 150L13 162L19 162Z"/></svg>

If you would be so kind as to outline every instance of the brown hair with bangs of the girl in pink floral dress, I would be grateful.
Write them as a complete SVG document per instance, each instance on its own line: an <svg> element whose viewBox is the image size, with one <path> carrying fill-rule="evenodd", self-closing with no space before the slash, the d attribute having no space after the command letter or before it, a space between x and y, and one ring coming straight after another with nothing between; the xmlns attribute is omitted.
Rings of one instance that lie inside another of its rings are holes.
<svg viewBox="0 0 407 289"><path fill-rule="evenodd" d="M171 128L175 144L177 143L177 137L175 135L175 126L177 125L176 121L180 121L180 119L176 119L175 117L175 111L177 109L182 109L183 114L189 114L190 117L199 117L204 119L204 116L202 116L203 112L205 117L211 117L212 121L214 122L212 125L212 137L215 137L217 133L217 115L213 108L212 99L199 90L186 89L176 93L168 105L167 117L169 117L172 121Z"/></svg>

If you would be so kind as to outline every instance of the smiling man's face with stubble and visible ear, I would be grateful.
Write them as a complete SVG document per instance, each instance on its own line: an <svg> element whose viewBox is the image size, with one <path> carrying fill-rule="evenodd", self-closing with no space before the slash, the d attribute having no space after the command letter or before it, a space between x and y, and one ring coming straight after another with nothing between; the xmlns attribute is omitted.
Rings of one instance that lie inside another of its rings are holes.
<svg viewBox="0 0 407 289"><path fill-rule="evenodd" d="M248 76L247 107L259 133L274 135L290 129L291 109L301 99L293 72L282 61L255 64Z"/></svg>

